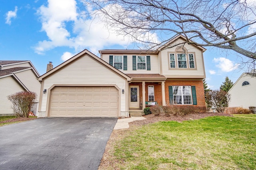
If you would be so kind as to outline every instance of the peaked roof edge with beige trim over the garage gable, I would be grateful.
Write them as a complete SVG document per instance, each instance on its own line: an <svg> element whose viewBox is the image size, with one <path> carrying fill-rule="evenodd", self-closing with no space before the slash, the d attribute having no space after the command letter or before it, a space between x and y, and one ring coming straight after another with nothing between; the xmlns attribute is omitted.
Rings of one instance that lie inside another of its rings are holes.
<svg viewBox="0 0 256 170"><path fill-rule="evenodd" d="M126 74L124 74L123 72L121 72L120 70L114 68L113 66L111 66L110 64L108 64L107 62L105 62L104 60L102 60L101 58L97 57L96 55L94 55L93 53L91 53L88 50L83 50L82 52L76 54L75 56L73 56L72 58L66 60L65 62L63 62L62 64L56 66L55 68L53 68L52 70L46 72L45 74L43 74L42 76L40 76L38 78L39 81L42 81L44 78L55 74L56 72L62 70L63 68L65 68L66 66L68 66L68 64L72 63L73 61L77 60L78 58L82 58L85 54L88 54L89 57L93 58L94 60L96 60L97 62L99 62L100 64L102 64L103 66L105 66L106 68L116 72L117 74L119 74L120 76L126 78L128 81L131 80L131 78L129 76L127 76Z"/></svg>

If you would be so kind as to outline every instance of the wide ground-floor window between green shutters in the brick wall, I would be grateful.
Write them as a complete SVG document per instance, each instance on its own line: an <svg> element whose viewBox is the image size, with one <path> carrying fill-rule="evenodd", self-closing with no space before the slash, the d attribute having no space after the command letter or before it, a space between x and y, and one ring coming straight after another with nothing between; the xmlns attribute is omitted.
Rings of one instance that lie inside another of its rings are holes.
<svg viewBox="0 0 256 170"><path fill-rule="evenodd" d="M192 104L191 86L172 86L174 104Z"/></svg>

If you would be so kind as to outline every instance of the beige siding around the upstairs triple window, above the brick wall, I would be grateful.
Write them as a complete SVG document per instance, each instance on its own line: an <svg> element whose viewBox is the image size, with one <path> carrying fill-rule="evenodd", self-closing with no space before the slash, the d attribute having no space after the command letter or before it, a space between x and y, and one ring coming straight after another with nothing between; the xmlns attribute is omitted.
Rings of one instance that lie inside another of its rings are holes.
<svg viewBox="0 0 256 170"><path fill-rule="evenodd" d="M174 44L182 43L183 40L178 39L174 42ZM161 51L162 55L162 72L163 75L166 77L170 76L204 76L204 63L202 58L202 51L196 48L193 45L185 44L184 47L188 50L188 53L194 52L196 58L196 68L197 70L192 69L171 69L169 70L169 60L168 60L168 52L175 52L176 47L167 48ZM175 60L175 62L177 62ZM188 63L188 60L187 60Z"/></svg>

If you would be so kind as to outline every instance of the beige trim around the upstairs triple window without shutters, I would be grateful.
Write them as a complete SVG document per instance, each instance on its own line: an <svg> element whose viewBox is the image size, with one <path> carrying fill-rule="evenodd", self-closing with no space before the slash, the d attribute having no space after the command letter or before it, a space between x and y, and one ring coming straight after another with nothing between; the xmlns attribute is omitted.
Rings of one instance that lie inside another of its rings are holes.
<svg viewBox="0 0 256 170"><path fill-rule="evenodd" d="M197 70L197 66L196 66L196 53L195 52L189 52L189 53L185 52L187 68L178 68L178 54L184 54L184 53L182 53L182 52L168 52L167 54L168 54L168 69L169 70ZM171 68L170 54L174 54L175 68ZM188 54L193 54L194 65L195 65L194 68L190 68Z"/></svg>

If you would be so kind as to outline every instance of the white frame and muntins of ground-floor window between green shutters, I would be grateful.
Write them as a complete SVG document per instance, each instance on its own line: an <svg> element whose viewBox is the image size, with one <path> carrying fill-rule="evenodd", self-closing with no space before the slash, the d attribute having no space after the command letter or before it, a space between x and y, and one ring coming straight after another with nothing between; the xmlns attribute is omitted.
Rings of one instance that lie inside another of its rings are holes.
<svg viewBox="0 0 256 170"><path fill-rule="evenodd" d="M174 94L176 91L175 91L175 88L178 87L177 90L180 90L180 94L179 94L179 91L177 91L177 94ZM188 89L184 89L183 87L190 87L190 91L186 91ZM176 105L192 105L193 104L193 101L192 101L192 88L191 86L172 86L172 95L173 95L173 103L176 104ZM190 98L187 98L187 97L190 97ZM181 98L181 104L177 104L177 102L174 102L175 99L179 99ZM190 102L189 104L188 103L184 103L184 99L188 99L186 100L185 102Z"/></svg>

